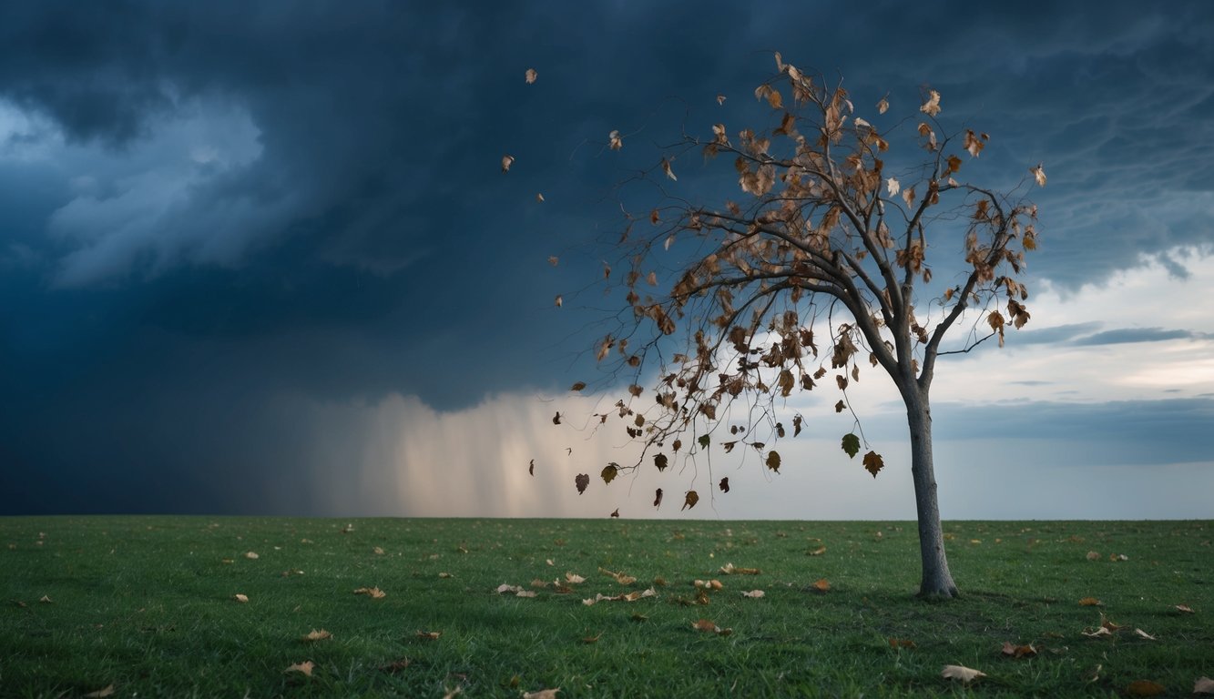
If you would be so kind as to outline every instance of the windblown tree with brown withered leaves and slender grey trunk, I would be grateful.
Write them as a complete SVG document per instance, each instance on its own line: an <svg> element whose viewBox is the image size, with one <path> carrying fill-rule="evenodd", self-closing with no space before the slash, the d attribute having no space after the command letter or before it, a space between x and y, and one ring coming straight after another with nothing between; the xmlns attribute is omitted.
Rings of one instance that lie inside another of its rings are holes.
<svg viewBox="0 0 1214 699"><path fill-rule="evenodd" d="M663 200L646 217L628 217L619 241L628 273L620 285L631 312L618 333L599 342L597 358L635 371L629 396L599 417L624 420L642 455L629 466L609 465L602 477L609 482L649 459L662 470L680 450L693 458L738 443L778 472L782 458L772 447L788 432L778 419L781 404L833 371L829 382L843 392L835 410L849 410L849 383L860 380L864 364L880 368L906 405L923 559L919 593L953 597L929 392L938 357L969 352L991 337L1002 346L1008 325L1028 320L1028 294L1015 275L1025 251L1036 248L1037 211L1014 199L1028 180L1010 193L959 181L963 155L977 158L988 136L970 129L947 133L935 90L924 90L910 118L883 130L860 115L841 83L832 87L811 79L779 53L776 64L778 74L755 90L772 109L771 126L731 137L715 124L711 137L685 135L640 175L662 189ZM866 116L887 119L887 109L883 97ZM895 154L891 141L898 137L912 141L918 155L907 161ZM622 146L613 132L611 148ZM711 160L709 174L727 167L728 177L737 177L739 201L685 198L673 163L694 150ZM896 155L903 160L889 165ZM732 167L720 165L726 159ZM1044 186L1040 165L1029 172ZM932 285L929 255L952 251L959 257L955 284ZM654 268L675 269L669 291L657 291ZM968 334L942 350L963 318ZM643 376L653 376L653 399L643 398ZM793 416L794 437L802 424L800 414ZM862 434L843 438L852 458ZM874 478L885 466L873 450L862 462ZM727 491L727 479L720 488ZM683 506L697 500L688 491Z"/></svg>

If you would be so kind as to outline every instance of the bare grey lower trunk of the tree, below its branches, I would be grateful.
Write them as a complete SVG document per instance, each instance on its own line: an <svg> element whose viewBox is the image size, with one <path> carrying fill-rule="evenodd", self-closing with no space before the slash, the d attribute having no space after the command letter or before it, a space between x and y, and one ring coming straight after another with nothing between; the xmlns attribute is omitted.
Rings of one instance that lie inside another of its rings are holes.
<svg viewBox="0 0 1214 699"><path fill-rule="evenodd" d="M903 399L907 405L907 424L910 427L910 474L914 479L914 501L919 516L919 555L923 558L919 596L957 597L957 585L948 572L948 558L944 556L944 535L940 528L927 391L912 386L910 390L903 391Z"/></svg>

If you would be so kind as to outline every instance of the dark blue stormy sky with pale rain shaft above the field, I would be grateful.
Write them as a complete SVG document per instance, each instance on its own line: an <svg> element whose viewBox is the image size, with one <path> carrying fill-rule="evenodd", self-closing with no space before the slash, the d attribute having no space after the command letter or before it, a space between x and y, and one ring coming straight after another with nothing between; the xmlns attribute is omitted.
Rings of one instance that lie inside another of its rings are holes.
<svg viewBox="0 0 1214 699"><path fill-rule="evenodd" d="M942 516L1214 517L1214 5L1125 0L2 2L0 515L913 518L877 374L879 478L830 392L778 474L597 478L622 183L768 119L773 51L872 121L937 90L975 181L1049 177L1031 323L937 368Z"/></svg>

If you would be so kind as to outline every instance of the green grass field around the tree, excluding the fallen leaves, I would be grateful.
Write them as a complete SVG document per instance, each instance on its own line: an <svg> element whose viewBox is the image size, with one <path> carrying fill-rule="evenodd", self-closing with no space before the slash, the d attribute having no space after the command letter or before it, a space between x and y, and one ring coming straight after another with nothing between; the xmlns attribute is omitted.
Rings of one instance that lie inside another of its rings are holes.
<svg viewBox="0 0 1214 699"><path fill-rule="evenodd" d="M1122 697L1150 680L1180 697L1214 676L1210 522L948 522L963 597L935 603L913 597L909 523L354 519L344 533L346 524L0 518L0 695L80 697L113 684L114 697L459 688L517 698L551 687L562 699ZM809 555L819 546L824 553ZM1108 559L1118 553L1128 559ZM730 562L761 573L721 574ZM622 586L599 568L639 581ZM572 593L535 589L534 598L494 592L566 572L586 581ZM658 578L656 597L582 603ZM692 581L711 578L724 590L696 604ZM811 587L818 579L829 591ZM742 597L754 589L766 596ZM1102 606L1083 607L1084 597ZM1124 629L1083 636L1102 615ZM732 632L696 631L698 619ZM313 629L333 637L304 641ZM1004 642L1038 654L1005 657ZM311 677L284 674L304 660L314 663ZM987 677L944 680L946 664Z"/></svg>

